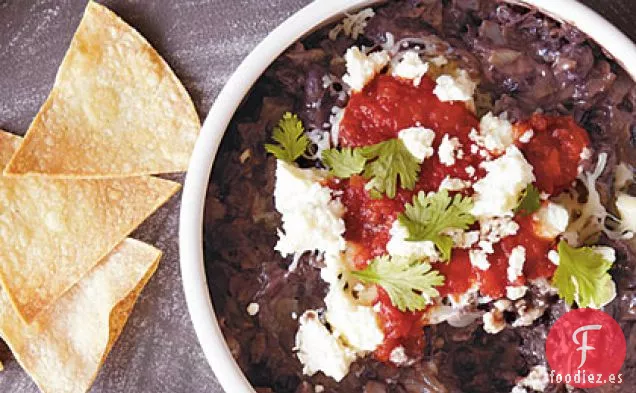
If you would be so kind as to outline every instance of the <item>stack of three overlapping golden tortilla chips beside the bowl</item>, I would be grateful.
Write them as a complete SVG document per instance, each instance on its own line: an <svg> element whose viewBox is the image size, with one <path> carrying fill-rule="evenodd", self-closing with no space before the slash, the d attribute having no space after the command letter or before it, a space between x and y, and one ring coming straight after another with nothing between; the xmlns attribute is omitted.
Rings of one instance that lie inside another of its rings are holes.
<svg viewBox="0 0 636 393"><path fill-rule="evenodd" d="M89 3L24 140L0 131L0 337L43 392L87 391L157 269L127 236L178 189L200 129L168 65Z"/></svg>

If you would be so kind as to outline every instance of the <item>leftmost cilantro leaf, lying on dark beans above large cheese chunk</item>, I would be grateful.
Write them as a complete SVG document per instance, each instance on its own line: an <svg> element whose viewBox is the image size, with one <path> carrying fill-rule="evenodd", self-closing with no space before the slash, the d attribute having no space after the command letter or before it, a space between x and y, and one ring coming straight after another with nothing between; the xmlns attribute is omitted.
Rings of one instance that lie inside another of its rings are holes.
<svg viewBox="0 0 636 393"><path fill-rule="evenodd" d="M304 131L305 128L298 116L287 112L272 133L272 139L278 144L267 143L265 150L279 160L294 162L309 146L309 138Z"/></svg>

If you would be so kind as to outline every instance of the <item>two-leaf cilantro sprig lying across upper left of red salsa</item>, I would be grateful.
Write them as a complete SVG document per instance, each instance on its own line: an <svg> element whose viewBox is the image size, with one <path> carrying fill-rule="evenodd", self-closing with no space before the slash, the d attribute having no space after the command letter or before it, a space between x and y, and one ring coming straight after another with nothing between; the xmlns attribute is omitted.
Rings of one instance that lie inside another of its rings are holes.
<svg viewBox="0 0 636 393"><path fill-rule="evenodd" d="M343 179L362 173L376 198L382 194L395 198L398 181L403 188L412 190L420 173L419 161L397 138L371 146L325 150L322 160L333 175Z"/></svg>

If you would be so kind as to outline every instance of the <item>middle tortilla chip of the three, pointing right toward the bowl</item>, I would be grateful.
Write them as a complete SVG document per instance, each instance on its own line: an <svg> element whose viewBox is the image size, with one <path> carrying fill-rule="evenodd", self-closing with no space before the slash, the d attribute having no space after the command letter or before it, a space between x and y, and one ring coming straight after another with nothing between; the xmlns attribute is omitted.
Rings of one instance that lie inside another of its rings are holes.
<svg viewBox="0 0 636 393"><path fill-rule="evenodd" d="M172 196L154 177L0 177L0 283L30 322Z"/></svg>

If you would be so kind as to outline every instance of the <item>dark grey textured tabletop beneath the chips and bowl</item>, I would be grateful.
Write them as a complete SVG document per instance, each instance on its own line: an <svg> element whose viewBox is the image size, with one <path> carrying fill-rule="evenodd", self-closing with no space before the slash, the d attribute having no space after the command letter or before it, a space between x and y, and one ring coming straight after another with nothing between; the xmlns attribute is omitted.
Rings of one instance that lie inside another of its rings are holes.
<svg viewBox="0 0 636 393"><path fill-rule="evenodd" d="M320 0L318 0L320 1ZM346 0L343 0L346 1ZM560 0L554 0L560 1ZM184 82L203 119L241 59L309 0L105 0ZM585 0L636 38L633 0ZM44 102L85 0L0 0L0 128L23 134ZM181 289L179 196L135 234L165 255L92 392L221 392L197 343ZM0 392L37 392L0 344ZM228 392L232 393L232 392Z"/></svg>

